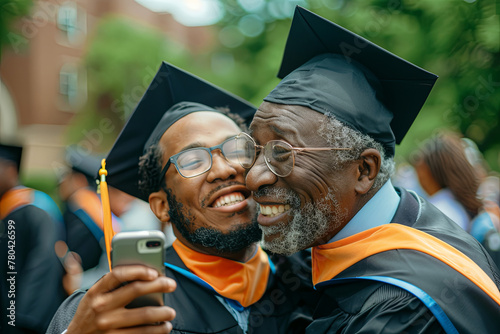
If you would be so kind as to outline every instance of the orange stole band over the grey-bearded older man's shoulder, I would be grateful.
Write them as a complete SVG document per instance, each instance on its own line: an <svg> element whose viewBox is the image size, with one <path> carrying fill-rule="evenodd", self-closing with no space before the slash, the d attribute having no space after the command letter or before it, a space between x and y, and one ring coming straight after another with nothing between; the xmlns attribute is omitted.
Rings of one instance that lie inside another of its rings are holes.
<svg viewBox="0 0 500 334"><path fill-rule="evenodd" d="M500 292L471 259L430 234L400 224L385 224L326 245L313 247L313 284L329 281L371 255L395 249L426 253L455 269L500 305Z"/></svg>

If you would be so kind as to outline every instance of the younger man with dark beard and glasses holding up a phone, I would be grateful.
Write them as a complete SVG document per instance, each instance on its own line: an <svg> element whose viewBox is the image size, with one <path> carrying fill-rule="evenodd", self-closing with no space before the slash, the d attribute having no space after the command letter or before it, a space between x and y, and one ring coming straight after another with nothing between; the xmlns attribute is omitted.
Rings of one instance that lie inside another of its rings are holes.
<svg viewBox="0 0 500 334"><path fill-rule="evenodd" d="M291 294L300 291L298 277L292 267L278 276L257 243L255 204L236 154L242 118L201 103L246 118L255 110L164 63L108 156L109 183L148 200L162 222L172 222L177 241L167 249L165 266L177 289L145 267L117 267L86 294L67 300L50 333L66 328L68 333L293 333L305 328L302 301ZM124 281L135 281L136 287L120 287ZM150 292L167 293L166 306L125 308ZM151 325L155 322L161 326Z"/></svg>

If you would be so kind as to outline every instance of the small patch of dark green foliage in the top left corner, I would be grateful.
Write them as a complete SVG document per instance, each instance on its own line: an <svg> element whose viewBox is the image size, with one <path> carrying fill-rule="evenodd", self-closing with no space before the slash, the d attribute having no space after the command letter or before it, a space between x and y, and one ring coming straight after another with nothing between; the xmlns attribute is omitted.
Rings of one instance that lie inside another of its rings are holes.
<svg viewBox="0 0 500 334"><path fill-rule="evenodd" d="M2 48L21 38L12 27L15 19L29 13L32 0L0 0L0 59Z"/></svg>

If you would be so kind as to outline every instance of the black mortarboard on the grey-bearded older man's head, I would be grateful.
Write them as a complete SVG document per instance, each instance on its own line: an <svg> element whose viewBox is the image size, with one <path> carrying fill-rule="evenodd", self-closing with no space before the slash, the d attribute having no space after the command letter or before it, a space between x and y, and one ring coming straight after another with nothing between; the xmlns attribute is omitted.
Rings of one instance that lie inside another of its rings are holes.
<svg viewBox="0 0 500 334"><path fill-rule="evenodd" d="M299 6L264 101L331 113L394 155L437 76Z"/></svg>

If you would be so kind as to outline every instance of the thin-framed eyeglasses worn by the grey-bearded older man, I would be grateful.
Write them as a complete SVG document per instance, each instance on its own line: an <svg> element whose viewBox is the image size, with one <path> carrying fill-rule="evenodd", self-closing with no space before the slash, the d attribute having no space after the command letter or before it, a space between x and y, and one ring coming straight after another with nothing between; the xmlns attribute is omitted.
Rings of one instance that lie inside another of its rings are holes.
<svg viewBox="0 0 500 334"><path fill-rule="evenodd" d="M295 155L305 151L347 151L340 147L293 147L282 140L271 140L266 145L257 145L252 137L242 132L236 136L238 160L243 168L249 169L257 160L257 151L262 150L264 161L276 176L290 175L295 166Z"/></svg>

